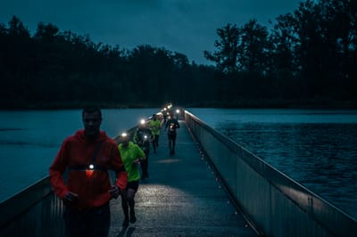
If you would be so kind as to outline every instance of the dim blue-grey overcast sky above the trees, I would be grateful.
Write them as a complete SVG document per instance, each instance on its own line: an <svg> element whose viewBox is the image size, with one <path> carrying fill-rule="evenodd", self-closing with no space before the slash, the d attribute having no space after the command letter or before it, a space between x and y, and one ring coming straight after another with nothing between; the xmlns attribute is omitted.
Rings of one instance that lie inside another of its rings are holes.
<svg viewBox="0 0 357 237"><path fill-rule="evenodd" d="M132 49L164 47L188 60L209 64L203 51L214 51L216 30L251 19L270 28L269 20L293 12L301 0L0 0L0 22L20 18L31 33L38 22L61 32L89 35L95 43Z"/></svg>

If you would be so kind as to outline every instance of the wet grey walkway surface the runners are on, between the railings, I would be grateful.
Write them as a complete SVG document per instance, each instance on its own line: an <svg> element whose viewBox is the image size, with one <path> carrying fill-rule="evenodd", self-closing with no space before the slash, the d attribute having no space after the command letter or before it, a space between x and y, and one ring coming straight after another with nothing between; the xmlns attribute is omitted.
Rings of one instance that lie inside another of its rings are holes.
<svg viewBox="0 0 357 237"><path fill-rule="evenodd" d="M112 200L110 236L256 236L179 123L176 154L170 156L163 128L157 153L150 153L150 177L136 196L137 223L121 227L120 199Z"/></svg>

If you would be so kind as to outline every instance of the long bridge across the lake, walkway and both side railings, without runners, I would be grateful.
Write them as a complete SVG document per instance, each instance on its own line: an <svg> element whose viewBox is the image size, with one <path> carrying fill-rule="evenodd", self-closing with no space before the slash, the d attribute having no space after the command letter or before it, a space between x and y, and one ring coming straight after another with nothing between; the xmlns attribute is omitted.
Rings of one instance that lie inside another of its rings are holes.
<svg viewBox="0 0 357 237"><path fill-rule="evenodd" d="M151 152L136 196L137 222L123 228L111 201L110 236L355 236L357 221L191 113ZM0 236L63 236L62 201L48 177L0 204Z"/></svg>

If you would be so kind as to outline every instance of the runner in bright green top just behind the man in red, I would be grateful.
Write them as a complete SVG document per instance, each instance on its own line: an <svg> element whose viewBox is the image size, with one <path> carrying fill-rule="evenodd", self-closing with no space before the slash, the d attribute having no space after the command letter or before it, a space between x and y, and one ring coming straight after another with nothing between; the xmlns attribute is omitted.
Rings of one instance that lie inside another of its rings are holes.
<svg viewBox="0 0 357 237"><path fill-rule="evenodd" d="M118 145L118 148L125 170L128 173L128 184L126 187L126 192L121 192L121 207L125 217L122 225L127 227L129 226L129 220L130 223L135 223L137 221L134 210L134 198L135 194L137 193L140 180L140 171L138 165L140 161L145 159L145 153L137 144L130 142L130 137L128 134L123 133L120 136L120 139L121 143Z"/></svg>

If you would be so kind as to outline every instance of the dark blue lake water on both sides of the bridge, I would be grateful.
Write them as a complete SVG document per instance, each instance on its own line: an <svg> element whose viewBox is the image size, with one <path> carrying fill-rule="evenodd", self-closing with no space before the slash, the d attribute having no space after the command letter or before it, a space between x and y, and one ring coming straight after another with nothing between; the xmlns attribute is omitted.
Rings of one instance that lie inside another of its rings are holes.
<svg viewBox="0 0 357 237"><path fill-rule="evenodd" d="M114 137L158 109L103 110ZM357 217L357 110L187 109L275 168ZM81 110L0 111L0 201L47 176Z"/></svg>

